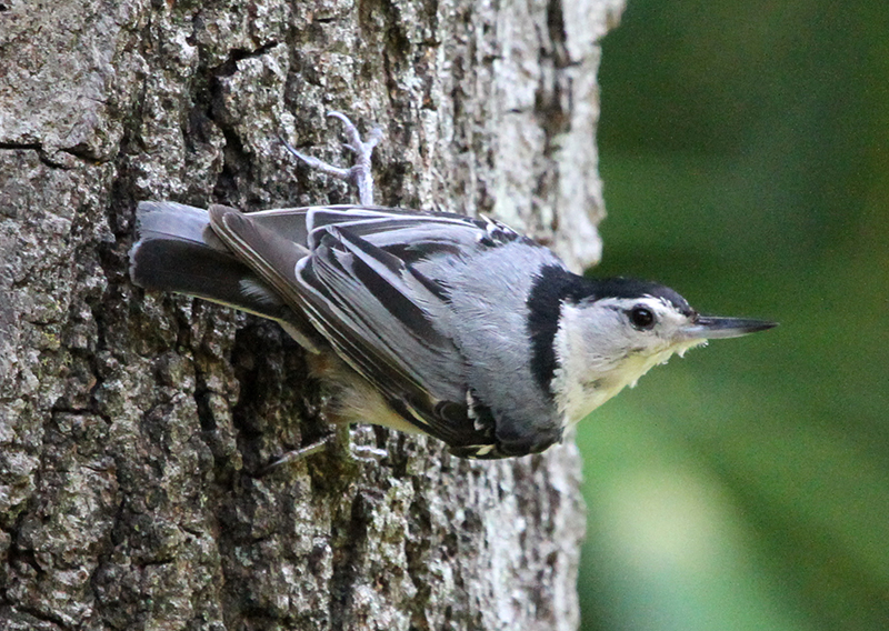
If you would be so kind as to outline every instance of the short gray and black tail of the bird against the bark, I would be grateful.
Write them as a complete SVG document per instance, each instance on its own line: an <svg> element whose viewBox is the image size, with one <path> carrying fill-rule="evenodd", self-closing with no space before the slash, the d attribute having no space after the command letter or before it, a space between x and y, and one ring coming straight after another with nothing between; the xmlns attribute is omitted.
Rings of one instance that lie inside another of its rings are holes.
<svg viewBox="0 0 889 631"><path fill-rule="evenodd" d="M136 209L136 221L139 240L130 250L133 283L203 298L272 320L288 319L278 294L213 233L206 210L170 201L143 201Z"/></svg>

